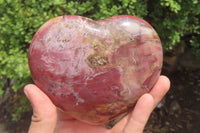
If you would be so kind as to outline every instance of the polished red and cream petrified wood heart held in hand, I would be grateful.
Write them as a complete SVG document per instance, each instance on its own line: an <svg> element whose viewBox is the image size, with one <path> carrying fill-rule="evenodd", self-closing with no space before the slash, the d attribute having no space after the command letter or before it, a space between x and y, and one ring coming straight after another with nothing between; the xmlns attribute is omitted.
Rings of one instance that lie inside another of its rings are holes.
<svg viewBox="0 0 200 133"><path fill-rule="evenodd" d="M126 112L151 90L162 54L155 30L137 17L61 16L37 31L29 66L35 84L58 108L97 125Z"/></svg>

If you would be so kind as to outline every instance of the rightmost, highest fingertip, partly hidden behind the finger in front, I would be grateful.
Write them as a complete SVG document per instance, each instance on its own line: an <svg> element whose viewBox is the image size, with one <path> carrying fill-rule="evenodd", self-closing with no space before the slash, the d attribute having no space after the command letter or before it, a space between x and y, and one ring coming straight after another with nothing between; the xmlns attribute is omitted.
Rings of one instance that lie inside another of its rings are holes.
<svg viewBox="0 0 200 133"><path fill-rule="evenodd" d="M160 76L155 86L150 91L154 98L154 107L162 100L164 95L169 91L170 81L166 76Z"/></svg>

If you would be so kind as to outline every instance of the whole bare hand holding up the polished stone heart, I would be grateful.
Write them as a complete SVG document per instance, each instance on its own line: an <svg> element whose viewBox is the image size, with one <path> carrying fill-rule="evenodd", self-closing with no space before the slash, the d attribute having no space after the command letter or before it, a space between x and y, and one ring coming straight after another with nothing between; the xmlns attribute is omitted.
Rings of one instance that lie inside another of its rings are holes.
<svg viewBox="0 0 200 133"><path fill-rule="evenodd" d="M170 81L160 76L149 93L140 97L132 112L123 117L112 129L82 123L57 110L51 100L35 85L24 88L33 108L28 133L142 133L149 116L168 92Z"/></svg>

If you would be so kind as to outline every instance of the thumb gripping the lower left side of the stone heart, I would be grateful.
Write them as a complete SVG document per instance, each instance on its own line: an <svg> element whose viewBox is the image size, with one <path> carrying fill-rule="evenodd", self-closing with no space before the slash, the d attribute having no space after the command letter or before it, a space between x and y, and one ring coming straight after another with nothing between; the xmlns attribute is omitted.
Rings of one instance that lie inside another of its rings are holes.
<svg viewBox="0 0 200 133"><path fill-rule="evenodd" d="M24 93L31 102L33 115L28 133L53 133L56 127L57 112L51 100L37 86L29 84Z"/></svg>

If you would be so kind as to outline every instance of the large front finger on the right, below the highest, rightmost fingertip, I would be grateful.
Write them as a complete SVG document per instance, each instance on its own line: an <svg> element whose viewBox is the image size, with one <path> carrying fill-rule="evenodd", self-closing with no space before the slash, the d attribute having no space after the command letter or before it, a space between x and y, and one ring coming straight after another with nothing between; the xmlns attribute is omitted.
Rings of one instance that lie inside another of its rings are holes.
<svg viewBox="0 0 200 133"><path fill-rule="evenodd" d="M124 133L142 133L153 110L154 99L150 94L144 94L136 103L132 113L127 116Z"/></svg>

